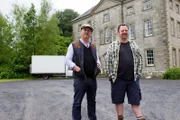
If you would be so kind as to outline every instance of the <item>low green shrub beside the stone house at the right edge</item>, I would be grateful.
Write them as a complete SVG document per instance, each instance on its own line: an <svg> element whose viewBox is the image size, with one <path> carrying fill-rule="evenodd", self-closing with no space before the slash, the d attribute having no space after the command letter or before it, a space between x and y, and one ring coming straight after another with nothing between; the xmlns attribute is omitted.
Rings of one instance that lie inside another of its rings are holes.
<svg viewBox="0 0 180 120"><path fill-rule="evenodd" d="M165 73L163 73L162 77L163 79L180 79L180 68L169 68Z"/></svg>

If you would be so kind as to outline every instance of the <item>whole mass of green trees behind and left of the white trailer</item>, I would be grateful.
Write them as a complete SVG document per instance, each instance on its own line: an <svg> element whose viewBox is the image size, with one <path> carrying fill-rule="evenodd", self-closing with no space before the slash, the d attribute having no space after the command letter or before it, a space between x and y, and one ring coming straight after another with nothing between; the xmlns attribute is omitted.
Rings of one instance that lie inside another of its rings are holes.
<svg viewBox="0 0 180 120"><path fill-rule="evenodd" d="M29 9L13 5L12 19L0 14L0 78L29 76L32 55L66 54L72 41L71 20L78 14L51 10L51 3L42 0L39 14L34 4Z"/></svg>

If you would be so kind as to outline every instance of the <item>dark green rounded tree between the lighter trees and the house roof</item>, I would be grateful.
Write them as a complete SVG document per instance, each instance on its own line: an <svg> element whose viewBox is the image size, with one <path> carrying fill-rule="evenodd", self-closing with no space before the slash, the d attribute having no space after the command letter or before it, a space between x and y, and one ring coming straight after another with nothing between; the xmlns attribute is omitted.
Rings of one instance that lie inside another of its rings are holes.
<svg viewBox="0 0 180 120"><path fill-rule="evenodd" d="M56 13L59 24L58 27L61 30L60 35L64 37L72 37L72 20L79 14L72 9L65 9L64 11L58 11Z"/></svg>

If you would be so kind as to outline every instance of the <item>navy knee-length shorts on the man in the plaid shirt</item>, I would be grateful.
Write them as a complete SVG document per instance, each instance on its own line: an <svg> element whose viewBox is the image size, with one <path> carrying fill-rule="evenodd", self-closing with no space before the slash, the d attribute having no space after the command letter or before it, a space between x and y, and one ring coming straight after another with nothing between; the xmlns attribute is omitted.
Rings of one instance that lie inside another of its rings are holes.
<svg viewBox="0 0 180 120"><path fill-rule="evenodd" d="M126 93L129 104L140 105L141 90L139 85L139 78L136 81L116 79L114 83L111 82L111 98L113 104L124 103Z"/></svg>

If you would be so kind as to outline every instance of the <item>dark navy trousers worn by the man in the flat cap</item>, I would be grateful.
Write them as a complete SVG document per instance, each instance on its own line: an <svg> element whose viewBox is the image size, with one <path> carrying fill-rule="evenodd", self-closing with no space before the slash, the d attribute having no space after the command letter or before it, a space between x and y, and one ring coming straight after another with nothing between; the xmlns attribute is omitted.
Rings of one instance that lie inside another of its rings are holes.
<svg viewBox="0 0 180 120"><path fill-rule="evenodd" d="M81 120L81 103L86 93L89 120L96 120L96 79L74 80L73 120Z"/></svg>

